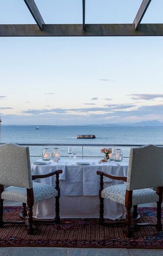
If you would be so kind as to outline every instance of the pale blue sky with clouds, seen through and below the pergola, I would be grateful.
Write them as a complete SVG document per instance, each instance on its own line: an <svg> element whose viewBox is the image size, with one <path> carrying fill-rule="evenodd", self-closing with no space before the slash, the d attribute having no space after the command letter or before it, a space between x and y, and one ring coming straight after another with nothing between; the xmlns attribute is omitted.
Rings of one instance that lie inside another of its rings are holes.
<svg viewBox="0 0 163 256"><path fill-rule="evenodd" d="M132 23L142 0L86 0L86 24ZM0 24L35 24L22 0ZM81 24L82 0L35 0L46 24ZM151 1L142 23L163 23ZM0 37L2 124L163 122L162 37Z"/></svg>

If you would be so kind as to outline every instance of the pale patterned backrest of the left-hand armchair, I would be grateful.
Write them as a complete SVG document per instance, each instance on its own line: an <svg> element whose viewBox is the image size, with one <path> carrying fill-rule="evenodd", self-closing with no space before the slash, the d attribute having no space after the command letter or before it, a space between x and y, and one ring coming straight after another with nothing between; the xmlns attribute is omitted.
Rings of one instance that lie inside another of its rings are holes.
<svg viewBox="0 0 163 256"><path fill-rule="evenodd" d="M28 146L0 146L0 184L32 187L30 152Z"/></svg>

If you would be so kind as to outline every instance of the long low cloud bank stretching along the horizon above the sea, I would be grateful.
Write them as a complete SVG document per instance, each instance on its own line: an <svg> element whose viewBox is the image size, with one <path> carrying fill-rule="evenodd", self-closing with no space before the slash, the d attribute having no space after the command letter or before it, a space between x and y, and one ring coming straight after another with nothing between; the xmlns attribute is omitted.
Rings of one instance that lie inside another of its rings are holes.
<svg viewBox="0 0 163 256"><path fill-rule="evenodd" d="M131 104L110 104L105 108L27 110L17 115L3 115L3 122L13 124L102 124L163 121L163 104L132 108Z"/></svg>

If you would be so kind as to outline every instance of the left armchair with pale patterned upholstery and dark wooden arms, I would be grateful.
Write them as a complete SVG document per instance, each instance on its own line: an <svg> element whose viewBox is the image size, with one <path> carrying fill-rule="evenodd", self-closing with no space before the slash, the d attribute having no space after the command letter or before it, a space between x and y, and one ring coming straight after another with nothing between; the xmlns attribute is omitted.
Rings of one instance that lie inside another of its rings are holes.
<svg viewBox="0 0 163 256"><path fill-rule="evenodd" d="M28 234L34 233L33 205L34 203L56 198L56 218L60 222L60 186L59 175L62 170L56 170L46 175L31 174L30 152L28 146L5 144L0 146L0 227L4 226L3 201L12 200L23 204L23 223L28 226ZM56 187L33 182L37 178L56 175ZM5 188L5 187L6 188ZM26 204L28 212L26 212ZM13 223L13 222L7 222ZM16 222L14 222L16 223ZM20 222L19 222L20 223Z"/></svg>

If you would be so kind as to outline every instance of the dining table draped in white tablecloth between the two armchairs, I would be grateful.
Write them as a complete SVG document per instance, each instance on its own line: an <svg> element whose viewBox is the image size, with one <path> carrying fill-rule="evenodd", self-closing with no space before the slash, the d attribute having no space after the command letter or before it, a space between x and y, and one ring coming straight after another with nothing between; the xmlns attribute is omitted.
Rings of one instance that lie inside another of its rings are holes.
<svg viewBox="0 0 163 256"><path fill-rule="evenodd" d="M32 175L41 175L62 169L60 175L60 217L61 218L98 218L99 217L99 175L97 170L107 174L126 176L128 160L121 162L101 162L100 159L67 159L43 161L38 159L31 164ZM55 186L55 176L37 179ZM104 187L122 184L123 181L104 177ZM104 200L104 218L125 219L125 206L110 200ZM55 198L34 204L33 216L37 219L55 218Z"/></svg>

